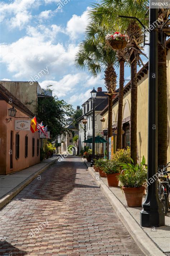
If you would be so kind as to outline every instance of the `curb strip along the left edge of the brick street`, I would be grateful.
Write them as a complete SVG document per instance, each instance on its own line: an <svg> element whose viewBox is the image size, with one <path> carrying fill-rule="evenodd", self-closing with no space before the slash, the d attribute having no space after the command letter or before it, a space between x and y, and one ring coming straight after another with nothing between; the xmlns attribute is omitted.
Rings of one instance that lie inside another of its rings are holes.
<svg viewBox="0 0 170 256"><path fill-rule="evenodd" d="M29 176L26 180L21 182L18 186L10 191L9 194L5 195L3 198L0 199L0 209L3 208L11 199L13 199L21 190L24 189L30 182L34 180L38 175L44 172L51 164L55 163L57 159L51 161L51 163L46 164L43 168L39 169L37 172Z"/></svg>

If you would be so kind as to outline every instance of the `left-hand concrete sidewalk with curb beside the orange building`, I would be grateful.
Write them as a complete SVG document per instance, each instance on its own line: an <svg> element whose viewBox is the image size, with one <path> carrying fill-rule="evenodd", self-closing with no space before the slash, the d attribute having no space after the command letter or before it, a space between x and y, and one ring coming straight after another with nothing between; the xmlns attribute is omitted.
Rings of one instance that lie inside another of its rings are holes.
<svg viewBox="0 0 170 256"><path fill-rule="evenodd" d="M4 207L5 204L56 160L57 156L54 156L22 171L0 175L0 208Z"/></svg>

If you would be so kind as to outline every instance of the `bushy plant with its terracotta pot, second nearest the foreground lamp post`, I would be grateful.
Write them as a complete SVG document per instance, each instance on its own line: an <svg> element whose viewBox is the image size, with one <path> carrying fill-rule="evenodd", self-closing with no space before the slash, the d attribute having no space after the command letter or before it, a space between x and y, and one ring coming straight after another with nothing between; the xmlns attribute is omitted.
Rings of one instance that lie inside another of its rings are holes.
<svg viewBox="0 0 170 256"><path fill-rule="evenodd" d="M118 164L117 160L107 160L105 162L103 171L106 173L109 187L118 187L120 165Z"/></svg>

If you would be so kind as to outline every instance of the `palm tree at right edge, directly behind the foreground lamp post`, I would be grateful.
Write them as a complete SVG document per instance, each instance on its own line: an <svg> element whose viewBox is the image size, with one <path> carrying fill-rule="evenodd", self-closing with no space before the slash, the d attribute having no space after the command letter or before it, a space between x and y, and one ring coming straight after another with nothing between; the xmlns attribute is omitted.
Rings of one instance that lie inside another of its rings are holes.
<svg viewBox="0 0 170 256"><path fill-rule="evenodd" d="M162 24L167 21L170 15L169 9L159 9L158 16L161 22L158 26L158 40L161 42ZM169 23L164 27L163 38L166 44L166 36L170 36ZM167 73L166 73L166 47L158 45L158 164L167 163Z"/></svg>

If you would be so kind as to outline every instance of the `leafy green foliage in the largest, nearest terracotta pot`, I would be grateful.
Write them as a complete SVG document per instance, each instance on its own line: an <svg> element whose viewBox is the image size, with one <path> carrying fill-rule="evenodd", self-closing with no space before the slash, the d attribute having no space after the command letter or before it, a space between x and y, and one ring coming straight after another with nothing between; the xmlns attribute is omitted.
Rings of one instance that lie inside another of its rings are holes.
<svg viewBox="0 0 170 256"><path fill-rule="evenodd" d="M123 171L119 175L121 187L141 187L147 179L147 168L145 167L145 157L143 156L140 164L120 163Z"/></svg>

